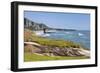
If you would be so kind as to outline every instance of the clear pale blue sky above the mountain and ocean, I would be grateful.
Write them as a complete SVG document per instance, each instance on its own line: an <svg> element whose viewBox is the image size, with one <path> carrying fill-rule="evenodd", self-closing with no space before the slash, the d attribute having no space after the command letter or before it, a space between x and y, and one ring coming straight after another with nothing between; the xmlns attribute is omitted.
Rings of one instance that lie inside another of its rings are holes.
<svg viewBox="0 0 100 73"><path fill-rule="evenodd" d="M90 30L90 14L24 11L24 17L53 28Z"/></svg>

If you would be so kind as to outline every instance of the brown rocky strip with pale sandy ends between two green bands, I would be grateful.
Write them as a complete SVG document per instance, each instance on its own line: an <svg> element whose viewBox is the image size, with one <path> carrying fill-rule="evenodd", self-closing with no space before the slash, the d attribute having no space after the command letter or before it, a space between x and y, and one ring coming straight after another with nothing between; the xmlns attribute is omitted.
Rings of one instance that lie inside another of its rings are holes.
<svg viewBox="0 0 100 73"><path fill-rule="evenodd" d="M90 51L83 48L60 48L43 46L35 42L24 42L25 48L31 53L45 56L86 56L90 57ZM30 48L30 49L29 49Z"/></svg>

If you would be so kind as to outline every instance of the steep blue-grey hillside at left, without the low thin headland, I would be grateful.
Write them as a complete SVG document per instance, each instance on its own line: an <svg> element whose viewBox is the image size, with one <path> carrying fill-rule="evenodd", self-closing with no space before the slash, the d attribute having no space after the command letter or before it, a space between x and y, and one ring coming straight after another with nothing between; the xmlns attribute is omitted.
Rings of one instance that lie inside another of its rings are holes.
<svg viewBox="0 0 100 73"><path fill-rule="evenodd" d="M28 28L31 30L43 30L44 28L49 28L45 24L42 23L36 23L34 21L31 21L27 18L24 18L24 28Z"/></svg>

